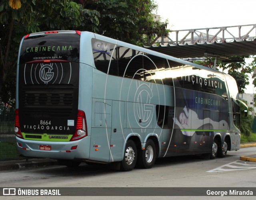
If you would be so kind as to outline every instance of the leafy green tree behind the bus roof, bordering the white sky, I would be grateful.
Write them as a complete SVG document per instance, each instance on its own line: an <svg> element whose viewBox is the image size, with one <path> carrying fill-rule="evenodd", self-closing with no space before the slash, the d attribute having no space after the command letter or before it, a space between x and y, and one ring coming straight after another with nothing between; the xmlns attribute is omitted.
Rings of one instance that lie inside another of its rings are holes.
<svg viewBox="0 0 256 200"><path fill-rule="evenodd" d="M152 0L80 0L90 10L100 12L97 33L114 39L145 45L156 35L165 37L168 21L154 22L157 5Z"/></svg>

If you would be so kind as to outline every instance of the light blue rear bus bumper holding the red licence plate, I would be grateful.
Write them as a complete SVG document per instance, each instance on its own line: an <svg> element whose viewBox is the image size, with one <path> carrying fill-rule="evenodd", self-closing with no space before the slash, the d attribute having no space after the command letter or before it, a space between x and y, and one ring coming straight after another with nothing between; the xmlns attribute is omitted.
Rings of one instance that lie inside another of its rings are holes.
<svg viewBox="0 0 256 200"><path fill-rule="evenodd" d="M90 136L77 141L49 142L32 141L16 137L18 154L25 157L52 159L88 159L90 154Z"/></svg>

